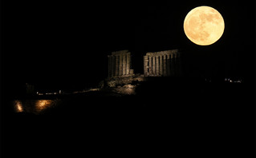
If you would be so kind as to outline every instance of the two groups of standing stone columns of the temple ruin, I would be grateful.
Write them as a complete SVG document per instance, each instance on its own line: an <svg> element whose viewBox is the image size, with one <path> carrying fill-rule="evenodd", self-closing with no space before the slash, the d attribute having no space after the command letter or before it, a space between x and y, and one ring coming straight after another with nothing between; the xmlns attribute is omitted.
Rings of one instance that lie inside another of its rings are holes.
<svg viewBox="0 0 256 158"><path fill-rule="evenodd" d="M108 77L130 77L133 75L131 53L128 50L108 55ZM146 53L144 77L171 77L181 75L181 52L178 49Z"/></svg>

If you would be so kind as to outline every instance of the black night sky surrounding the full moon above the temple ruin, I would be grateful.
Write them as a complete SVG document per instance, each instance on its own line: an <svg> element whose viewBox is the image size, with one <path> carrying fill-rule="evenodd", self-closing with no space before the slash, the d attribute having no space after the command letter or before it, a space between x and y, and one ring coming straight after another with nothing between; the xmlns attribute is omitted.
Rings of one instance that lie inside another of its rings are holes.
<svg viewBox="0 0 256 158"><path fill-rule="evenodd" d="M185 15L197 6L225 20L213 45L185 37ZM2 1L2 83L90 85L107 77L107 55L120 49L132 52L136 73L144 53L182 49L190 76L254 77L254 10L253 1Z"/></svg>

